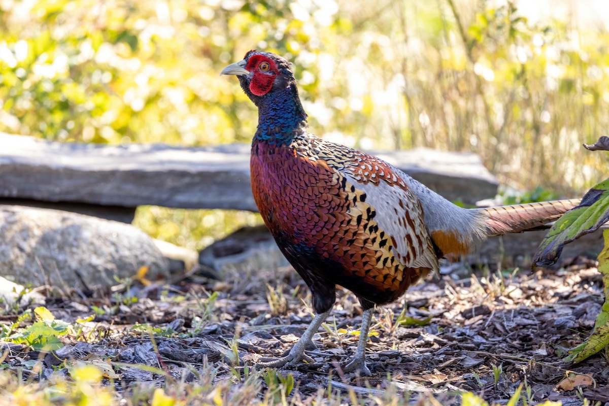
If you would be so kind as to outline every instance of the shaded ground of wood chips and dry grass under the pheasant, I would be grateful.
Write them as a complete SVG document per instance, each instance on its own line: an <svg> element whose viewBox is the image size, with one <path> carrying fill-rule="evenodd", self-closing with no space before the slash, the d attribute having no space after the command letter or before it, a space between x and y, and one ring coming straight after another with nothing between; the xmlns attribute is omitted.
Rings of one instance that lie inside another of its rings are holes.
<svg viewBox="0 0 609 406"><path fill-rule="evenodd" d="M527 404L582 405L584 398L605 404L607 352L579 365L563 362L566 351L590 334L602 306L595 266L576 258L557 270L487 268L473 275L456 265L445 267L439 281L430 277L399 303L378 309L367 346L370 378L340 369L354 354L353 332L361 322L354 296L340 292L331 317L315 335L318 349L309 352L315 363L280 371L294 377L288 401L310 404L334 396L335 403L350 404L355 393L365 403L390 393L404 404L433 403L434 398L451 405L460 404L466 391L505 404L523 384L521 399ZM209 298L212 292L217 293ZM162 385L167 376L210 385L228 382L238 390L248 384L256 360L281 355L312 320L306 285L287 268L234 273L221 282L192 275L169 287L134 282L113 290L60 293L46 303L56 318L76 323L94 314L94 320L83 323L79 337L63 337L65 346L51 354L4 344L10 348L9 369L42 360L35 379L44 380L66 373L65 360L97 357L111 360L118 377L107 382L119 391L146 382ZM4 315L0 323L16 318ZM568 371L592 379L568 390ZM262 382L261 390L269 385Z"/></svg>

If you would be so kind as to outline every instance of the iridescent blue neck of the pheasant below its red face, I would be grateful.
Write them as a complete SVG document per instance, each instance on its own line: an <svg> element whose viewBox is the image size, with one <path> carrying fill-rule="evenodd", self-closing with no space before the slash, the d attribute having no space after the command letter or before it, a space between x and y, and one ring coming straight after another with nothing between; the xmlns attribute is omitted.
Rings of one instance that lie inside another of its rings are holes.
<svg viewBox="0 0 609 406"><path fill-rule="evenodd" d="M258 103L258 130L254 138L269 144L287 144L307 127L306 113L298 99L295 83L267 94Z"/></svg>

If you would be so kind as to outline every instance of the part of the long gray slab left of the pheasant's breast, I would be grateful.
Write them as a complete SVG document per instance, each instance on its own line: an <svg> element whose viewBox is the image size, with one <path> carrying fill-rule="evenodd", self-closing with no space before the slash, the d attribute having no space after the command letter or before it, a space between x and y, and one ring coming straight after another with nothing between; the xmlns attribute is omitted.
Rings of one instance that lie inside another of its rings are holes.
<svg viewBox="0 0 609 406"><path fill-rule="evenodd" d="M255 210L248 145L49 142L0 133L0 197Z"/></svg>

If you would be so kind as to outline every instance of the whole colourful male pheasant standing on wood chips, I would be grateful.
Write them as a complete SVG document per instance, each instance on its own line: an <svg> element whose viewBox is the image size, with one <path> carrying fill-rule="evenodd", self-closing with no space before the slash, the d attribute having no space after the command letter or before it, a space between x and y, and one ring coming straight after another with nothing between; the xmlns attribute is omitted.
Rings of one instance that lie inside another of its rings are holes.
<svg viewBox="0 0 609 406"><path fill-rule="evenodd" d="M460 208L382 159L309 133L284 58L249 51L222 74L237 75L258 107L252 192L281 252L311 290L315 312L287 355L259 365L310 360L305 349L340 285L363 309L356 353L343 371L370 376L365 345L375 305L395 301L418 279L437 273L438 259L466 254L489 236L541 226L579 203Z"/></svg>

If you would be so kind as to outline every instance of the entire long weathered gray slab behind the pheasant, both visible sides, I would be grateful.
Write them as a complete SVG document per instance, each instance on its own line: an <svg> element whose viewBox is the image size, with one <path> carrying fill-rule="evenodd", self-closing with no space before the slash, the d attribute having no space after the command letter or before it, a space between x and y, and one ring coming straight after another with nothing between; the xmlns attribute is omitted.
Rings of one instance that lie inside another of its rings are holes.
<svg viewBox="0 0 609 406"><path fill-rule="evenodd" d="M417 149L376 155L449 200L473 204L497 192L497 181L472 153ZM249 161L246 144L107 146L0 133L0 198L256 211Z"/></svg>

